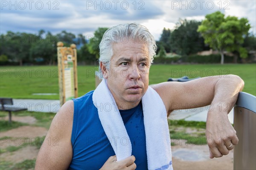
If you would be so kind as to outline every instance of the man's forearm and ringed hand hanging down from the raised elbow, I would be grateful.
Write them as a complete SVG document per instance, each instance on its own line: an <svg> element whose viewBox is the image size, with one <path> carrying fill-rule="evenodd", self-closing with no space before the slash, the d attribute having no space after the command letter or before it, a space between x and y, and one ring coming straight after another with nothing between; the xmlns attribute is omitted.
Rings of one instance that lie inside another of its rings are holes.
<svg viewBox="0 0 256 170"><path fill-rule="evenodd" d="M234 75L219 79L214 88L214 98L207 114L206 137L210 158L227 155L238 144L236 130L227 114L236 104L239 91L244 88L244 81Z"/></svg>

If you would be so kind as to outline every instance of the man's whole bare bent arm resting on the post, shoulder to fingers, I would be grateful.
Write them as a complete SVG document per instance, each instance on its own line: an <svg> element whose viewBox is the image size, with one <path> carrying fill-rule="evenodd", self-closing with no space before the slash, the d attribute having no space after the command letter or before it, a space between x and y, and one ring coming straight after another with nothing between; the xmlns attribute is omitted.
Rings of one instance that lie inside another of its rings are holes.
<svg viewBox="0 0 256 170"><path fill-rule="evenodd" d="M238 143L227 114L243 87L244 81L236 75L204 77L189 82L163 82L153 86L163 99L167 112L211 104L206 127L210 158L227 155Z"/></svg>

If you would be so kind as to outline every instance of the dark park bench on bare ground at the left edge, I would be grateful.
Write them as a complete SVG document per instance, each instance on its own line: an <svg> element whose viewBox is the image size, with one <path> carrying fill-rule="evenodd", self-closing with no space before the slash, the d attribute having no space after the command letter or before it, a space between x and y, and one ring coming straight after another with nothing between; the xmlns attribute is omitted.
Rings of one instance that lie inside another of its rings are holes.
<svg viewBox="0 0 256 170"><path fill-rule="evenodd" d="M18 108L13 106L12 98L0 98L0 111L9 112L9 123L12 122L12 112L15 111L26 111L27 108Z"/></svg>

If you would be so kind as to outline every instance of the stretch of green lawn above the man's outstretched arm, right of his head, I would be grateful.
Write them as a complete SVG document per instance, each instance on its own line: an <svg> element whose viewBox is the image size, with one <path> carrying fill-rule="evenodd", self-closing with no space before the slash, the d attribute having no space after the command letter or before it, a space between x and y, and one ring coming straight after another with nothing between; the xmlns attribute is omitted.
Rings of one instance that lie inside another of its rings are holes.
<svg viewBox="0 0 256 170"><path fill-rule="evenodd" d="M210 77L213 75L235 74L244 80L244 92L256 96L255 64L212 64L212 65L152 65L149 83L156 84L167 81L168 77Z"/></svg>

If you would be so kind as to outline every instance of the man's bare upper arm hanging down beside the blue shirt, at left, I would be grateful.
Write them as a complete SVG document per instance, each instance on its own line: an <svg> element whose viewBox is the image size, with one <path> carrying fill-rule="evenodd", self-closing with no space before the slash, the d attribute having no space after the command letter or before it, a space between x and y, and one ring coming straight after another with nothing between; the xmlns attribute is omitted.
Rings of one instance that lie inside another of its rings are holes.
<svg viewBox="0 0 256 170"><path fill-rule="evenodd" d="M74 103L67 101L56 113L35 163L35 170L67 169L72 160L71 133Z"/></svg>

